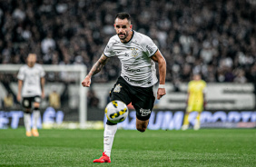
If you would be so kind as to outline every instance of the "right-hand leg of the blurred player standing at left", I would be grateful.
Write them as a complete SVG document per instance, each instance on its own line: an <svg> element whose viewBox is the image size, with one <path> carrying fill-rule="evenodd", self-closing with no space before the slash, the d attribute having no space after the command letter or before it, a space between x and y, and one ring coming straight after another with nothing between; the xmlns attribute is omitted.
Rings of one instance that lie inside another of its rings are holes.
<svg viewBox="0 0 256 167"><path fill-rule="evenodd" d="M33 127L32 127L32 134L35 137L39 136L39 133L37 131L37 122L38 119L40 118L40 103L41 103L41 98L39 96L34 97L34 110L33 110Z"/></svg>

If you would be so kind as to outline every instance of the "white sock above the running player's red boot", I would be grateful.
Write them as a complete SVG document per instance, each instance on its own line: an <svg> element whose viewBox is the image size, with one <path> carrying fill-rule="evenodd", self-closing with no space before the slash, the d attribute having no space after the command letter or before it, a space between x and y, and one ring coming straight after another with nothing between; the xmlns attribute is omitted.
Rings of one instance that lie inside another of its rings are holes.
<svg viewBox="0 0 256 167"><path fill-rule="evenodd" d="M117 131L117 124L115 125L105 125L105 129L104 129L104 152L107 156L110 157L111 154L111 149L112 149L112 145L113 145L113 137L114 134Z"/></svg>

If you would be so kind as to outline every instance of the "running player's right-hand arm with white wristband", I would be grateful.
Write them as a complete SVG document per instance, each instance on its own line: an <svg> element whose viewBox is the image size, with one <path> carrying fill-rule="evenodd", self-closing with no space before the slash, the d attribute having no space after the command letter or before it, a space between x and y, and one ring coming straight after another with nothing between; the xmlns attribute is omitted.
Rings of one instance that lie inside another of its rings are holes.
<svg viewBox="0 0 256 167"><path fill-rule="evenodd" d="M159 67L159 87L157 90L157 99L160 99L165 92L165 77L166 77L166 62L160 51L158 50L153 56L151 57L154 62L158 63Z"/></svg>

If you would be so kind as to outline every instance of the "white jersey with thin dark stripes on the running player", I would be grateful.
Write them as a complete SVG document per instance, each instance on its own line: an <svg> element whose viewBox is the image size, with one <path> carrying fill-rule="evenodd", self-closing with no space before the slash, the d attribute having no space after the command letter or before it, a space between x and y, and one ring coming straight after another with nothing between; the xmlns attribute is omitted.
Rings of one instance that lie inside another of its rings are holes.
<svg viewBox="0 0 256 167"><path fill-rule="evenodd" d="M133 86L150 87L157 83L155 64L150 58L158 48L153 40L133 31L128 43L123 44L118 35L110 38L103 54L107 57L117 56L122 64L121 76Z"/></svg>

